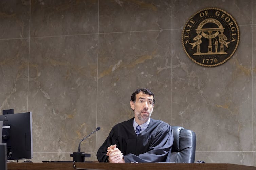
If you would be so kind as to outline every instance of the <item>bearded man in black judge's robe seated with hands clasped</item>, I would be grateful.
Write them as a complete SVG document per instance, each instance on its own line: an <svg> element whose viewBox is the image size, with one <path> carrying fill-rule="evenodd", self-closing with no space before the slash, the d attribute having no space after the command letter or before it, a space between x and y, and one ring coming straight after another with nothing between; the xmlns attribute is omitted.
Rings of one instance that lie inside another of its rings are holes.
<svg viewBox="0 0 256 170"><path fill-rule="evenodd" d="M149 89L131 96L134 117L115 125L97 152L99 162L165 162L173 144L169 124L150 118L155 104Z"/></svg>

